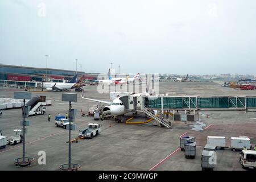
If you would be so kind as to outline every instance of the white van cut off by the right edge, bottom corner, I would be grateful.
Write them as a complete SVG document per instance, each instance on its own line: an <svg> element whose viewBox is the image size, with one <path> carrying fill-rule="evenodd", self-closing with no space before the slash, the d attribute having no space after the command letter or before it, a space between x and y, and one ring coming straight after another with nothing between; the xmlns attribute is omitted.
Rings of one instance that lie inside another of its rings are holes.
<svg viewBox="0 0 256 182"><path fill-rule="evenodd" d="M240 164L243 168L256 168L256 151L242 150L240 154Z"/></svg>

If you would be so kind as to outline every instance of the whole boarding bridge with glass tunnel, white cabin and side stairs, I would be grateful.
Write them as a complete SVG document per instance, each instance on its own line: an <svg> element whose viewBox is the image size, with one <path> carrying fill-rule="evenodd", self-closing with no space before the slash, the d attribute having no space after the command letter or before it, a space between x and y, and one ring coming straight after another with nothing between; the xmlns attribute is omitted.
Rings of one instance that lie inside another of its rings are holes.
<svg viewBox="0 0 256 182"><path fill-rule="evenodd" d="M174 115L177 110L193 111L246 111L256 109L256 96L146 96L129 94L119 98L130 111L143 112L158 121L160 125L171 128L170 120L164 115ZM154 114L158 110L160 114Z"/></svg>

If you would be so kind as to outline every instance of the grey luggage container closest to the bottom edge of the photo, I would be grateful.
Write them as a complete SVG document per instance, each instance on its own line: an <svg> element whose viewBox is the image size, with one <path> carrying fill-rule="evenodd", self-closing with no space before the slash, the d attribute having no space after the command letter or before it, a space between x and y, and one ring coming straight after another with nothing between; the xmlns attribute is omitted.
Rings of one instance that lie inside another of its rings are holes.
<svg viewBox="0 0 256 182"><path fill-rule="evenodd" d="M213 157L212 152L213 151L203 150L202 156L201 156L202 171L206 171L206 170L213 171L213 168L216 167L216 164L214 164L214 160L212 160L212 157Z"/></svg>

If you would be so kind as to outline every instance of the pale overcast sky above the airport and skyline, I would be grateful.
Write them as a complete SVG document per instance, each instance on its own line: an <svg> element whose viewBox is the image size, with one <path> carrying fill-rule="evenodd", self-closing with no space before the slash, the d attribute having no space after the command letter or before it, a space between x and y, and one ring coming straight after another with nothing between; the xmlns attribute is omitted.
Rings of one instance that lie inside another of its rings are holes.
<svg viewBox="0 0 256 182"><path fill-rule="evenodd" d="M0 63L256 75L255 0L1 0Z"/></svg>

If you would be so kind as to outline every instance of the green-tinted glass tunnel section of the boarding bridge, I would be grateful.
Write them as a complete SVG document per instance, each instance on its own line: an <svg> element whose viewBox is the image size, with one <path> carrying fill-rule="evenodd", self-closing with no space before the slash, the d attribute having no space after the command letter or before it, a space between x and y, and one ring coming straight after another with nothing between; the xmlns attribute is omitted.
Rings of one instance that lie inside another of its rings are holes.
<svg viewBox="0 0 256 182"><path fill-rule="evenodd" d="M245 110L256 109L256 96L150 96L144 106L163 110Z"/></svg>

